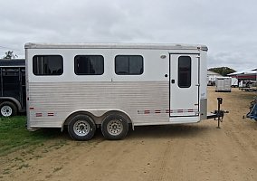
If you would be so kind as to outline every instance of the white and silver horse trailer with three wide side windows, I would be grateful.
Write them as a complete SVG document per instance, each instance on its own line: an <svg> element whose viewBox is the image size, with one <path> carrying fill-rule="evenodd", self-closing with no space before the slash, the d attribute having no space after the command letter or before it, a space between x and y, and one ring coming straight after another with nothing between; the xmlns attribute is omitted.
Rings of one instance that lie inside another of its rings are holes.
<svg viewBox="0 0 257 181"><path fill-rule="evenodd" d="M207 119L204 45L26 43L27 128L96 128L120 139L144 125Z"/></svg>

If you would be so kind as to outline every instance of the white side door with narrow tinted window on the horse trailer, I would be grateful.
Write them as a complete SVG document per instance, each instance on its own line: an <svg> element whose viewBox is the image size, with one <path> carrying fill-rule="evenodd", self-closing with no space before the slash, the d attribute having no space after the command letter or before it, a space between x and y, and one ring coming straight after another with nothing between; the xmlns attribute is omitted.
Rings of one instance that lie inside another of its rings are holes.
<svg viewBox="0 0 257 181"><path fill-rule="evenodd" d="M170 54L170 117L199 115L199 57L199 54Z"/></svg>

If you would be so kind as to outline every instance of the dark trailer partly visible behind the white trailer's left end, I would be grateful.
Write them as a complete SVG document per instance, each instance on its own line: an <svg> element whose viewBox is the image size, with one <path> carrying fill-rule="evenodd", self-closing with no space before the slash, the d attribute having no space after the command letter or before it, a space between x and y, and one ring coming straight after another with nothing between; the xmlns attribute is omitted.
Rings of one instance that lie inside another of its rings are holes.
<svg viewBox="0 0 257 181"><path fill-rule="evenodd" d="M0 114L14 116L26 110L25 60L0 59Z"/></svg>

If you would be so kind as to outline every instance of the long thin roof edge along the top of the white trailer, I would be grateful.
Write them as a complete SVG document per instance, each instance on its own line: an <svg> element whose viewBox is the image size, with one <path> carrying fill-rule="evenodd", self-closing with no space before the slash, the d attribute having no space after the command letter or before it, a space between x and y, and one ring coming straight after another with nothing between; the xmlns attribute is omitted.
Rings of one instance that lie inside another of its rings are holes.
<svg viewBox="0 0 257 181"><path fill-rule="evenodd" d="M201 44L164 44L164 43L25 43L25 49L156 49L156 50L202 50Z"/></svg>

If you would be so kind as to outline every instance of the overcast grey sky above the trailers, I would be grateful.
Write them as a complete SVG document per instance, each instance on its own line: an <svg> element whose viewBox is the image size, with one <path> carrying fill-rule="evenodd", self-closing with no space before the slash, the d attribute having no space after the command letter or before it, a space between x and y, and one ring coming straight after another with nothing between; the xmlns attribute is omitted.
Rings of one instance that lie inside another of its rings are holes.
<svg viewBox="0 0 257 181"><path fill-rule="evenodd" d="M257 68L256 0L0 0L0 56L24 43L191 43L208 68Z"/></svg>

